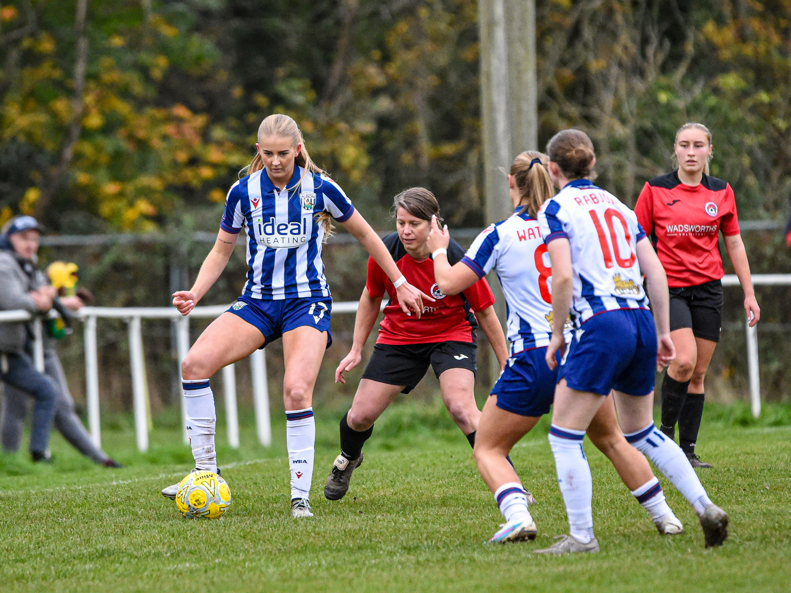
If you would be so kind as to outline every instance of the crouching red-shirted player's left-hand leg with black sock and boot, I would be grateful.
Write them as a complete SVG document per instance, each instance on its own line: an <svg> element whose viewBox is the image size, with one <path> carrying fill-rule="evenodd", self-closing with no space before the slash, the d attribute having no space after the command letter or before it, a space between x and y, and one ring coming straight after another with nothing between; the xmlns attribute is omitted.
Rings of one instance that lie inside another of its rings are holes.
<svg viewBox="0 0 791 593"><path fill-rule="evenodd" d="M362 446L373 432L373 423L403 390L403 385L360 380L354 402L341 420L341 453L332 463L324 497L340 500L349 491L351 474L362 463Z"/></svg>

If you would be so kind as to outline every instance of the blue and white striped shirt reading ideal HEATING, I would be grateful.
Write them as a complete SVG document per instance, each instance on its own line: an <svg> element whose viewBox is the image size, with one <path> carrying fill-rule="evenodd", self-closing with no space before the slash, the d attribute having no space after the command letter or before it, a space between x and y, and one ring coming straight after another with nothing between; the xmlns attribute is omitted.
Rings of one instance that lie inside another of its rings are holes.
<svg viewBox="0 0 791 593"><path fill-rule="evenodd" d="M248 281L242 293L254 299L282 300L330 296L321 261L324 228L314 214L327 210L343 222L354 213L346 194L327 176L294 167L283 191L266 169L233 184L225 198L220 228L247 232Z"/></svg>

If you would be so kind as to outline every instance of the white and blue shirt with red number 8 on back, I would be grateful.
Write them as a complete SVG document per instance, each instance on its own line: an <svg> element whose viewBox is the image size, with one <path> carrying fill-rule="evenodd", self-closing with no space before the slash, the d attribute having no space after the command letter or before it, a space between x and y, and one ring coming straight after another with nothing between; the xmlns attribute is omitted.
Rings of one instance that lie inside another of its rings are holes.
<svg viewBox="0 0 791 593"><path fill-rule="evenodd" d="M528 213L490 225L461 259L483 278L496 270L508 309L506 334L511 356L549 346L552 337L552 270L539 222ZM567 328L566 341L571 338Z"/></svg>

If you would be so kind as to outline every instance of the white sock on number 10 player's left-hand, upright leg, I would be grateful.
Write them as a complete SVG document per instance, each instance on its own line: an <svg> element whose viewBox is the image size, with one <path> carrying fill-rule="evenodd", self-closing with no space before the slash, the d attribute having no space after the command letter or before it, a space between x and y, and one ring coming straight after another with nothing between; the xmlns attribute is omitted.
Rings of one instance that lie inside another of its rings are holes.
<svg viewBox="0 0 791 593"><path fill-rule="evenodd" d="M558 485L566 503L571 535L588 543L593 538L593 480L585 451L582 450L584 430L562 429L551 425L549 444L558 470Z"/></svg>

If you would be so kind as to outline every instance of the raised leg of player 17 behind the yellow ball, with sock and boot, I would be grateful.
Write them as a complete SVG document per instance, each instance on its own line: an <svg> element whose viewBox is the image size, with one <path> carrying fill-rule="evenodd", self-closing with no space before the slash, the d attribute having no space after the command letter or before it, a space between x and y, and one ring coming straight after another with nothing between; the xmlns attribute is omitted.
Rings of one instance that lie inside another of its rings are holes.
<svg viewBox="0 0 791 593"><path fill-rule="evenodd" d="M181 364L184 406L187 410L187 436L190 439L195 469L218 472L214 432L217 415L209 379L221 368L248 357L263 346L263 334L238 315L225 312L210 323L192 345ZM162 490L162 496L175 498L178 483Z"/></svg>

